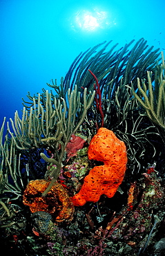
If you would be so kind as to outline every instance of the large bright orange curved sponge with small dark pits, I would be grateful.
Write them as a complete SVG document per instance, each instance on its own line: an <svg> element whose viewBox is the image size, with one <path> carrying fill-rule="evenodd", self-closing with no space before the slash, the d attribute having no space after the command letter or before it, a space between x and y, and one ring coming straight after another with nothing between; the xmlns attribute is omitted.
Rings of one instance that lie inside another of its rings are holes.
<svg viewBox="0 0 165 256"><path fill-rule="evenodd" d="M126 172L126 146L106 128L99 128L91 140L88 158L104 162L104 165L90 170L79 193L72 196L72 203L76 206L87 201L97 202L101 194L113 197Z"/></svg>

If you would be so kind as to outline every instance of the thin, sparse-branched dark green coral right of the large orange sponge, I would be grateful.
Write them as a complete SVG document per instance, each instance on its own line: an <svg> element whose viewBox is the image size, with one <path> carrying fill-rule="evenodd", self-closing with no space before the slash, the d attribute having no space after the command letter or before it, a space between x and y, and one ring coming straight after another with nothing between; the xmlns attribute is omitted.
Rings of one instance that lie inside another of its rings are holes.
<svg viewBox="0 0 165 256"><path fill-rule="evenodd" d="M138 173L143 169L142 161L147 164L150 158L156 157L160 136L151 120L140 114L137 99L133 97L130 87L122 82L115 92L114 100L103 100L104 124L124 141L129 160L128 170Z"/></svg>

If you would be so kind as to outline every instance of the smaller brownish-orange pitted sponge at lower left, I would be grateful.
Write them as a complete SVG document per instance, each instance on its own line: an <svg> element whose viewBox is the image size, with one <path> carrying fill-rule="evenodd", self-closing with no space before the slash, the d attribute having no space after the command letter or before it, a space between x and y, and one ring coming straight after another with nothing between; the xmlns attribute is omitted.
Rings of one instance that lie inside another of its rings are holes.
<svg viewBox="0 0 165 256"><path fill-rule="evenodd" d="M48 212L56 222L71 221L74 206L63 186L54 183L47 196L41 196L50 181L44 179L30 181L23 194L23 203L30 206L31 212Z"/></svg>

